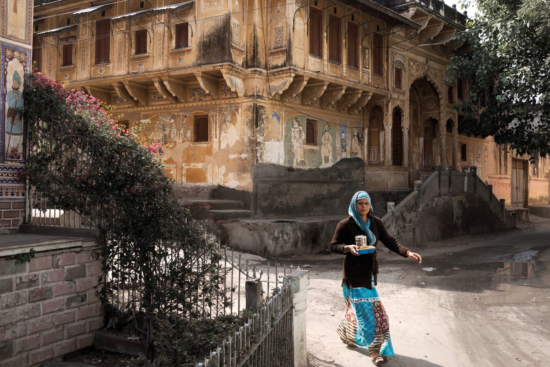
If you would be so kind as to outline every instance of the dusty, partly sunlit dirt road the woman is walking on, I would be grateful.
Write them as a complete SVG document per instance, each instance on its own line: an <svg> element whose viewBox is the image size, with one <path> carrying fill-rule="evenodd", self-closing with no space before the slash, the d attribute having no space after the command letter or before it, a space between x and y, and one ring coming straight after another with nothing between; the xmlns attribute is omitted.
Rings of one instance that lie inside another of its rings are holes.
<svg viewBox="0 0 550 367"><path fill-rule="evenodd" d="M422 265L381 251L377 289L397 354L385 366L550 366L550 222L533 220L510 232L423 244L414 249ZM344 313L342 256L296 260L311 265L311 366L371 365L365 350L346 346L335 331Z"/></svg>

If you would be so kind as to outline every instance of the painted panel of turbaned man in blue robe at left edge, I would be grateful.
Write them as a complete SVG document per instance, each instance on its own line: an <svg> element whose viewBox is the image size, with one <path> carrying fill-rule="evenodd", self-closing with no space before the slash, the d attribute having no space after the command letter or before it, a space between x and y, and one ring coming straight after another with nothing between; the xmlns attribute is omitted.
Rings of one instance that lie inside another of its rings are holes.
<svg viewBox="0 0 550 367"><path fill-rule="evenodd" d="M29 80L30 50L2 44L0 140L3 162L23 162L23 91Z"/></svg>

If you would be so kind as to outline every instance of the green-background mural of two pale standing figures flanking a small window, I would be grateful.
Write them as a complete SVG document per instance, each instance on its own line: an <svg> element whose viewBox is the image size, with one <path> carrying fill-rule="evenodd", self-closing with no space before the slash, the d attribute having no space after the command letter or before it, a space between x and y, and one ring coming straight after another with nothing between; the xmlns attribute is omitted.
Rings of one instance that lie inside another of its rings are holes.
<svg viewBox="0 0 550 367"><path fill-rule="evenodd" d="M337 160L337 129L327 119L317 120L317 145L306 145L306 119L296 114L287 117L283 128L284 164L296 167L319 167Z"/></svg>

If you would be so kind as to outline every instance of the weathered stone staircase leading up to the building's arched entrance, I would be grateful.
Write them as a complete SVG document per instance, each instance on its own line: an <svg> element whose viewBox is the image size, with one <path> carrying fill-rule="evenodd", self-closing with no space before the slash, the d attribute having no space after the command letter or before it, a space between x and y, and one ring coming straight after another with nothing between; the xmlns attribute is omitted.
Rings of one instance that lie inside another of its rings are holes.
<svg viewBox="0 0 550 367"><path fill-rule="evenodd" d="M449 174L451 175L449 179ZM450 188L450 189L449 189ZM407 245L515 228L515 218L474 173L434 172L382 221Z"/></svg>

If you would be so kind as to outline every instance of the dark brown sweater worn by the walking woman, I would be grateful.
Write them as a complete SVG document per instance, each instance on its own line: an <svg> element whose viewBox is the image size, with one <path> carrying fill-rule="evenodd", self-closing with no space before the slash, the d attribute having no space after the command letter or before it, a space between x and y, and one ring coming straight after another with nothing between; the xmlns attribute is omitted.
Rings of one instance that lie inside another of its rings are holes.
<svg viewBox="0 0 550 367"><path fill-rule="evenodd" d="M375 247L377 247L378 241L380 241L394 253L404 258L407 257L406 254L409 249L397 242L397 239L388 233L380 218L371 215L371 225L368 228L376 237ZM371 289L371 274L374 276L375 286L377 284L378 261L376 260L376 250L374 253L359 256L352 255L351 251L344 253L345 245L355 244L356 235L366 235L366 233L363 232L354 218L350 216L338 223L329 249L333 254L345 255L342 284L345 282L348 288L364 287Z"/></svg>

